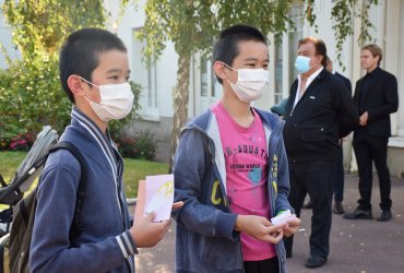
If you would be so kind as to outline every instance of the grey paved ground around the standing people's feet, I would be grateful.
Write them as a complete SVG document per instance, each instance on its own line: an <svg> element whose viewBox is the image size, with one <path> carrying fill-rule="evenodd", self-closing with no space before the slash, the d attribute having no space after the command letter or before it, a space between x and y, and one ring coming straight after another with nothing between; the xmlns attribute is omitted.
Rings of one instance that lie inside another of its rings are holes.
<svg viewBox="0 0 404 273"><path fill-rule="evenodd" d="M345 176L345 210L356 207L358 199L357 176ZM375 178L372 205L373 217L379 216L379 187ZM331 253L320 269L308 270L305 262L309 256L310 210L301 212L301 232L295 236L294 257L287 260L290 273L404 273L404 179L392 178L393 219L387 223L372 221L347 221L333 215ZM133 209L133 207L132 207ZM155 248L141 249L136 256L139 273L175 272L175 223L167 236Z"/></svg>

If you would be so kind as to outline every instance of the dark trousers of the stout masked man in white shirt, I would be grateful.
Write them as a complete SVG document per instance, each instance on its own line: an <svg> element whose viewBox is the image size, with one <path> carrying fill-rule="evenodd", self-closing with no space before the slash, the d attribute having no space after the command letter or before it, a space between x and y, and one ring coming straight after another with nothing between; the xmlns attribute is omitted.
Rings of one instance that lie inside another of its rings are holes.
<svg viewBox="0 0 404 273"><path fill-rule="evenodd" d="M328 258L332 221L333 170L335 162L289 163L289 202L300 217L300 207L309 193L311 217L310 254ZM314 216L316 215L316 216ZM292 254L293 237L284 238L286 253Z"/></svg>

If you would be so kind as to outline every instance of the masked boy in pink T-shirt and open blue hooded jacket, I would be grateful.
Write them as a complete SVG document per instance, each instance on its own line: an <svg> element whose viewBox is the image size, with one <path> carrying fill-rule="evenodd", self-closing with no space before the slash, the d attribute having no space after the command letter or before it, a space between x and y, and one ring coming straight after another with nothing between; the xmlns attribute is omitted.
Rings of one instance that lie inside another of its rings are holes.
<svg viewBox="0 0 404 273"><path fill-rule="evenodd" d="M251 107L268 92L265 37L248 25L222 32L213 51L222 99L182 130L175 156L177 272L286 272L283 236L300 221L273 225L290 210L288 166L277 116Z"/></svg>

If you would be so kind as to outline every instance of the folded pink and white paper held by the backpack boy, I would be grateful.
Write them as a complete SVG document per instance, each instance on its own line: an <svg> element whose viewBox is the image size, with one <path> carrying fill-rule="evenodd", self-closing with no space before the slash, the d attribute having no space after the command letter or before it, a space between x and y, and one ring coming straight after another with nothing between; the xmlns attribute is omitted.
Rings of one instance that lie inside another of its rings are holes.
<svg viewBox="0 0 404 273"><path fill-rule="evenodd" d="M139 181L134 221L156 212L153 222L169 219L174 201L174 175L147 176Z"/></svg>

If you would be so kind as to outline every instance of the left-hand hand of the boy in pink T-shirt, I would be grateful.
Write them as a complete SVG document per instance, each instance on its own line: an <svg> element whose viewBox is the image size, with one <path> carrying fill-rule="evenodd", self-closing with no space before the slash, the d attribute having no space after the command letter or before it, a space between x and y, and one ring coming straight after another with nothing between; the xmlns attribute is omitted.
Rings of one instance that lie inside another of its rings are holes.
<svg viewBox="0 0 404 273"><path fill-rule="evenodd" d="M272 223L257 215L238 215L235 230L245 233L256 239L277 244L283 237L283 228L286 224L272 225Z"/></svg>

